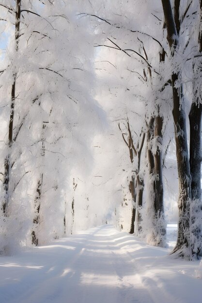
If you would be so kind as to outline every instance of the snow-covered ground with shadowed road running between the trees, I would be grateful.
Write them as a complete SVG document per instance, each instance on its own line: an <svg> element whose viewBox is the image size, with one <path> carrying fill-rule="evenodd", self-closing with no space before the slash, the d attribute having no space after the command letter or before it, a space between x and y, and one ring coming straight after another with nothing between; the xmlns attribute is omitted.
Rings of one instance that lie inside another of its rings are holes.
<svg viewBox="0 0 202 303"><path fill-rule="evenodd" d="M176 225L168 226L173 246ZM199 303L200 261L105 225L0 257L0 303Z"/></svg>

